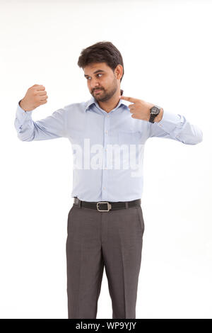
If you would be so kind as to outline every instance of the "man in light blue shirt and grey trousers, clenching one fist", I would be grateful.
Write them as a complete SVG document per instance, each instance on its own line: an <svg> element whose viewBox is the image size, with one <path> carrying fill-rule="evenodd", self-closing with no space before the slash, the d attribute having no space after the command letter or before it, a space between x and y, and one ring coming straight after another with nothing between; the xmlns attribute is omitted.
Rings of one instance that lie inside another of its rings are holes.
<svg viewBox="0 0 212 333"><path fill-rule="evenodd" d="M145 142L164 137L196 145L202 132L183 115L124 97L122 55L112 43L82 50L78 66L92 95L89 101L69 104L34 122L33 110L48 98L45 87L35 84L18 103L15 126L20 140L66 137L73 148L66 241L69 318L96 318L104 267L112 318L136 318Z"/></svg>

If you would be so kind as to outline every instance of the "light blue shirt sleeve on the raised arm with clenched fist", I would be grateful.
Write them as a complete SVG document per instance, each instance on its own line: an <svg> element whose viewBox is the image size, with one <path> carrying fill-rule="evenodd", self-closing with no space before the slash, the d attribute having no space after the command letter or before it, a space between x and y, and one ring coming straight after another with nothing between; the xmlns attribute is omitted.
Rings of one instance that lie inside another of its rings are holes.
<svg viewBox="0 0 212 333"><path fill-rule="evenodd" d="M66 111L60 108L42 120L33 121L32 111L24 111L18 106L14 122L18 138L21 141L50 140L66 137Z"/></svg>

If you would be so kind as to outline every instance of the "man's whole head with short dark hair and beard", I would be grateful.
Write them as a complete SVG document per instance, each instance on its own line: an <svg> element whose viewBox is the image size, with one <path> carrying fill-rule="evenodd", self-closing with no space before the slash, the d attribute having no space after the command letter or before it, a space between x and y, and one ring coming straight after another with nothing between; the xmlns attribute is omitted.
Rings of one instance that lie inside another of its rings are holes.
<svg viewBox="0 0 212 333"><path fill-rule="evenodd" d="M99 42L83 49L78 66L83 68L90 94L97 101L108 101L116 92L119 94L124 64L121 53L112 43Z"/></svg>

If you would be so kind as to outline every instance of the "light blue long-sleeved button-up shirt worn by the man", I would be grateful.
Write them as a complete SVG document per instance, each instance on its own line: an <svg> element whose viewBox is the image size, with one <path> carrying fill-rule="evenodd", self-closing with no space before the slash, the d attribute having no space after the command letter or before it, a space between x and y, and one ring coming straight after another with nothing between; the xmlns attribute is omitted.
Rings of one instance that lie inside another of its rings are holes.
<svg viewBox="0 0 212 333"><path fill-rule="evenodd" d="M149 137L196 145L203 134L184 115L166 110L159 123L132 118L130 103L120 100L107 113L92 96L89 101L71 103L38 121L33 121L33 111L24 111L18 103L14 125L22 141L69 139L72 197L95 202L132 201L143 193L143 152Z"/></svg>

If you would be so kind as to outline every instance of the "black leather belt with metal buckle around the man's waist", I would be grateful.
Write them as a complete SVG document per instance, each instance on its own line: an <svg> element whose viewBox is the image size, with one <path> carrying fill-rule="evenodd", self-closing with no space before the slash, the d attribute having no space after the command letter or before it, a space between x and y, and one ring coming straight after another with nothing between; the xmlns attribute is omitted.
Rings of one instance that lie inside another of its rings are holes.
<svg viewBox="0 0 212 333"><path fill-rule="evenodd" d="M80 199L74 197L73 203L78 205L79 208L91 208L97 209L99 212L109 212L109 210L115 209L127 209L131 207L136 207L141 205L141 199L136 199L133 201L117 201L117 202L110 202L110 201L98 201L97 203L91 201L81 201Z"/></svg>

